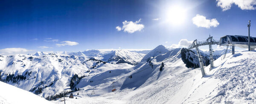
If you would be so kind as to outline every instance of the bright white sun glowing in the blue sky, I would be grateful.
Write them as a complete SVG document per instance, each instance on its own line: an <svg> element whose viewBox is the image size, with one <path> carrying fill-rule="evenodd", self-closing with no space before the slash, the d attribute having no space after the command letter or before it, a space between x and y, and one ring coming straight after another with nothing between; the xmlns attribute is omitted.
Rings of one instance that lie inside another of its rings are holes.
<svg viewBox="0 0 256 104"><path fill-rule="evenodd" d="M184 22L186 17L186 10L180 6L172 6L167 9L167 22L173 25L180 25Z"/></svg>

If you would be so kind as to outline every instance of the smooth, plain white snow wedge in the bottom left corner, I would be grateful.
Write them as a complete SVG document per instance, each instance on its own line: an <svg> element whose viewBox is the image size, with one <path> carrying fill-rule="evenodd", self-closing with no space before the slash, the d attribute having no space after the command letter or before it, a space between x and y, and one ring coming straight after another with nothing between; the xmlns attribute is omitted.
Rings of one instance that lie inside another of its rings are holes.
<svg viewBox="0 0 256 104"><path fill-rule="evenodd" d="M34 93L0 82L0 104L53 104Z"/></svg>

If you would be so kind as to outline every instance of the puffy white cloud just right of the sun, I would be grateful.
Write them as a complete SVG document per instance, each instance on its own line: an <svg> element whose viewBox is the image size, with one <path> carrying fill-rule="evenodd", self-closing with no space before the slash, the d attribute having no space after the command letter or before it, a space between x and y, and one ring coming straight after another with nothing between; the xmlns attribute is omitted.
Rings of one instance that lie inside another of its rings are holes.
<svg viewBox="0 0 256 104"><path fill-rule="evenodd" d="M193 24L197 25L198 27L217 27L220 23L217 19L206 19L205 16L197 14L195 17L192 18Z"/></svg>

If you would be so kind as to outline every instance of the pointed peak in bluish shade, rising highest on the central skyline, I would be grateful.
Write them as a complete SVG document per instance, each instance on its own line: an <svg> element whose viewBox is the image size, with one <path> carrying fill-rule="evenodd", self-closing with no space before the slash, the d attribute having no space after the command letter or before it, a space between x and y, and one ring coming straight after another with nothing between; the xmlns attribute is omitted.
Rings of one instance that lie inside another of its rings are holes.
<svg viewBox="0 0 256 104"><path fill-rule="evenodd" d="M169 50L166 49L166 47L164 47L163 45L159 45L156 48L154 48L151 52L149 52L147 55L145 55L143 57L143 59L141 60L141 62L148 61L151 57L155 57L157 55L165 54L168 51Z"/></svg>

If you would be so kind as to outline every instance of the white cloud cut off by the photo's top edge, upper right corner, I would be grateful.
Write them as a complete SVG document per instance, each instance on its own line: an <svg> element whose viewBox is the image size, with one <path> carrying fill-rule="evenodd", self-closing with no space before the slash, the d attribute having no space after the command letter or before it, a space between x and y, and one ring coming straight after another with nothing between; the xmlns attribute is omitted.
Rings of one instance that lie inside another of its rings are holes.
<svg viewBox="0 0 256 104"><path fill-rule="evenodd" d="M226 11L231 8L233 4L238 5L242 10L255 10L256 0L216 0L217 6Z"/></svg>

